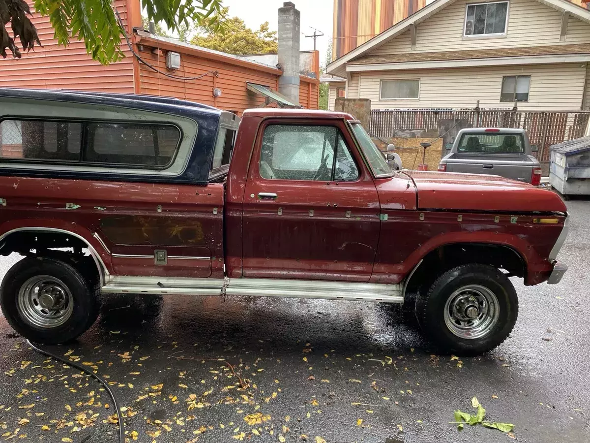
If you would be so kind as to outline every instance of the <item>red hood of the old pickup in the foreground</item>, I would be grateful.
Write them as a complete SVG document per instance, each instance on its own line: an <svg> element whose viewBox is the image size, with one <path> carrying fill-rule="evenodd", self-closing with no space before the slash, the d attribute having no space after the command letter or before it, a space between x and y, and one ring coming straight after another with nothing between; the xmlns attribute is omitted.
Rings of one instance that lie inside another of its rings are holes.
<svg viewBox="0 0 590 443"><path fill-rule="evenodd" d="M418 209L565 212L552 191L499 175L412 172Z"/></svg>

